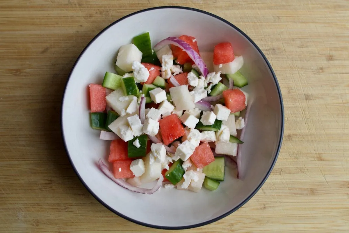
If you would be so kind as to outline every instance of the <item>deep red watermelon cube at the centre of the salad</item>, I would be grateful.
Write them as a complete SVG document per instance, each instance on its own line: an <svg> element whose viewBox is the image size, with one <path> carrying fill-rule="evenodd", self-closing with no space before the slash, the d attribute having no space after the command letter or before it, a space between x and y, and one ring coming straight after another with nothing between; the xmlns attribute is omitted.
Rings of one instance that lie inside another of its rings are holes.
<svg viewBox="0 0 349 233"><path fill-rule="evenodd" d="M176 114L166 116L159 121L160 132L165 145L169 145L185 134L184 127Z"/></svg>

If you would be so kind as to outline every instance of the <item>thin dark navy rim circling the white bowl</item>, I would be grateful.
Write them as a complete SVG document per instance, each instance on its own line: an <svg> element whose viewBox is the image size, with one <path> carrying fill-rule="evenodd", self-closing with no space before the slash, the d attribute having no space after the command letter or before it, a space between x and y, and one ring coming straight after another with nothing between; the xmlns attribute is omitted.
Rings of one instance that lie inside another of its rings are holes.
<svg viewBox="0 0 349 233"><path fill-rule="evenodd" d="M109 29L110 27L112 27L114 24L128 18L128 17L131 17L133 15L136 15L136 14L139 14L139 13L142 13L142 12L146 12L146 11L150 11L150 10L157 10L157 9L169 9L169 8L172 8L172 9L183 9L183 10L192 10L192 11L195 11L195 12L199 12L199 13L203 13L203 14L206 14L206 15L209 15L211 17L214 17L226 24L228 24L230 27L234 28L235 30L237 30L240 34L242 34L249 42L251 42L251 44L258 50L258 52L261 54L261 56L263 57L263 59L265 60L266 64L268 65L268 68L270 70L270 72L272 73L273 75L273 78L274 78L274 81L275 81L275 85L276 85L276 88L277 88L277 92L279 94L279 99L280 99L280 107L281 107L281 132L280 132L280 138L279 138L279 145L277 147L277 150L276 150L276 154L275 154L275 158L272 162L272 165L270 166L266 176L263 178L262 182L257 186L257 188L248 196L244 199L244 201L242 201L239 205L237 205L236 207L234 207L233 209L231 209L230 211L214 218L214 219L211 219L211 220L208 220L208 221L204 221L202 223L197 223L197 224L192 224L192 225L186 225L186 226L158 226L158 225L153 225L153 224L148 224L148 223L143 223L141 221L138 221L138 220L135 220L133 218L130 218L130 217L127 217L125 216L124 214L121 214L119 213L118 211L114 210L112 207L110 207L109 205L107 205L106 203L104 203L96 194L94 194L94 192L92 192L92 190L88 187L88 185L83 181L83 179L81 178L81 176L79 175L79 173L77 172L73 162L72 162L72 159L70 158L70 154L68 152L68 149L67 149L67 145L66 145L66 140L65 140L65 136L64 136L64 133L63 133L63 103L64 103L64 97L65 97L65 93L66 93L66 89L67 89L67 86L68 86L68 83L69 83L69 79L70 79L70 76L72 75L73 71L74 71L74 68L76 66L76 64L79 62L80 58L83 56L84 52L86 51L86 49L90 46L90 44L92 44L95 39L97 39L100 35L103 34L103 32L107 29ZM146 227L151 227L151 228L156 228L156 229L163 229L163 230L184 230L184 229L189 229L189 228L195 228L195 227L200 227L200 226L204 226L204 225L207 225L207 224L210 224L210 223L214 223L215 221L218 221L224 217L227 217L228 215L230 215L231 213L235 212L236 210L238 210L240 207L242 207L246 202L248 202L257 192L258 190L262 187L262 185L265 183L265 181L267 180L268 176L270 175L270 173L272 172L273 168L274 168L274 165L276 163L276 160L277 160L277 157L279 156L279 152L280 152L280 149L281 149L281 144L282 144L282 139L283 139L283 132L284 132L284 106L283 106L283 100L282 100L282 95L281 95L281 90L280 90L280 86L279 86L279 82L277 81L277 78L276 78L276 75L274 73L274 70L272 68L272 66L270 65L268 59L266 58L266 56L264 55L264 53L261 51L261 49L257 46L257 44L255 44L252 39L250 37L248 37L242 30L240 30L238 27L236 27L234 24L230 23L229 21L221 18L220 16L217 16L215 14L212 14L212 13L209 13L209 12L206 12L204 10L200 10L200 9L196 9L196 8L192 8L192 7L182 7L182 6L160 6L160 7L151 7L151 8L146 8L146 9L142 9L142 10L139 10L137 12L133 12L131 14L128 14L124 17L121 17L120 19L114 21L113 23L109 24L107 27L105 27L102 31L100 31L93 39L91 39L91 41L86 45L86 47L82 50L82 52L80 53L79 57L77 57L72 69L70 70L70 73L68 75L68 79L66 81L66 84L65 84L65 87L64 87L64 92L63 92L63 95L62 95L62 100L61 100L61 118L60 118L60 124L61 124L61 135L62 135L62 139L63 139L63 143L64 143L64 148L65 148L65 151L68 155L68 159L69 159L69 162L70 162L70 165L72 166L75 174L77 175L77 177L79 178L80 182L84 185L84 187L90 192L90 194L99 202L101 203L104 207L106 207L108 210L110 210L111 212L117 214L118 216L128 220L128 221L131 221L133 223L136 223L136 224L139 224L139 225L142 225L142 226L146 226Z"/></svg>

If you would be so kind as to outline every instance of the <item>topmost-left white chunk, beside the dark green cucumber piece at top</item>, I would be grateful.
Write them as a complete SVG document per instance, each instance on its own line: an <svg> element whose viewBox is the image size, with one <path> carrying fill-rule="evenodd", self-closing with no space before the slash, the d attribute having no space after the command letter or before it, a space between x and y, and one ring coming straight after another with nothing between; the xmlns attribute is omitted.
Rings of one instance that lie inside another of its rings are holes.
<svg viewBox="0 0 349 233"><path fill-rule="evenodd" d="M132 71L132 62L142 60L142 52L134 44L122 45L119 49L115 65L125 72Z"/></svg>

